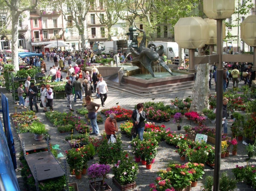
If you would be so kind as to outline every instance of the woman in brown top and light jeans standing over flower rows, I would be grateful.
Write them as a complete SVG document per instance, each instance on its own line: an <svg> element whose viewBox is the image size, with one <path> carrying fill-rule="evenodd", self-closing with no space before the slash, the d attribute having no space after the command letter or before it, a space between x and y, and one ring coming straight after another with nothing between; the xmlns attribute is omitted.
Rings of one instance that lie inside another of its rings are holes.
<svg viewBox="0 0 256 191"><path fill-rule="evenodd" d="M100 105L94 102L91 102L90 96L85 97L86 101L86 109L88 110L88 118L90 119L90 123L93 127L93 132L89 133L90 135L98 136L100 134L99 127L97 124L97 112L100 109ZM97 109L95 108L97 107Z"/></svg>

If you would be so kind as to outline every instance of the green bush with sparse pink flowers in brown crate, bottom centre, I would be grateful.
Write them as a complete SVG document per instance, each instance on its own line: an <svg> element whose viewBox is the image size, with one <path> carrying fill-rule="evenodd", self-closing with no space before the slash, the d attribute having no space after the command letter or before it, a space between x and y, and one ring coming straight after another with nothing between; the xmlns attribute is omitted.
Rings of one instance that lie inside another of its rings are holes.
<svg viewBox="0 0 256 191"><path fill-rule="evenodd" d="M138 165L126 151L122 152L120 159L114 164L112 182L120 189L135 189Z"/></svg>

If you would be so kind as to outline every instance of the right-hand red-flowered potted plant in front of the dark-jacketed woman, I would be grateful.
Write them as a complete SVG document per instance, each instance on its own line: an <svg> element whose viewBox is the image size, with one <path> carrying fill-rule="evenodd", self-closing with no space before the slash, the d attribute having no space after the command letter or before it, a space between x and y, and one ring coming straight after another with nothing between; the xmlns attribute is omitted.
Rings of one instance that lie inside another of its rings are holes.
<svg viewBox="0 0 256 191"><path fill-rule="evenodd" d="M158 142L156 139L149 139L142 141L142 152L143 158L147 162L147 164L151 164L151 161L156 157Z"/></svg>

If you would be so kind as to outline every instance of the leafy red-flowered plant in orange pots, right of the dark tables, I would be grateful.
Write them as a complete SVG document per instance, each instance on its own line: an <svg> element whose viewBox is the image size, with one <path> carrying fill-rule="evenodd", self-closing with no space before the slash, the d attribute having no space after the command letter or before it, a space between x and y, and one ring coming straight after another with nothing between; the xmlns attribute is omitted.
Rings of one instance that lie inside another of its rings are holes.
<svg viewBox="0 0 256 191"><path fill-rule="evenodd" d="M78 175L83 168L83 157L84 154L81 152L80 148L72 148L70 150L66 150L66 158L69 164L69 170L72 174L73 170L75 170L75 174Z"/></svg>

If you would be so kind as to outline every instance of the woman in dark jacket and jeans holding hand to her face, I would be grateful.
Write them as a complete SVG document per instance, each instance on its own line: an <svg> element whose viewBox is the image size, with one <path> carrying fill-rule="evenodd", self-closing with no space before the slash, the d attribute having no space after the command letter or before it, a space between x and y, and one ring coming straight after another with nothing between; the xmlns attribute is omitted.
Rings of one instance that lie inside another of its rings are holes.
<svg viewBox="0 0 256 191"><path fill-rule="evenodd" d="M133 120L133 126L135 126L135 134L132 135L132 139L139 135L139 139L142 141L143 140L143 132L145 128L145 122L144 120L146 119L146 112L143 111L143 104L138 103L137 104L137 109L133 110L132 114L132 120ZM128 146L128 148L132 148L131 145Z"/></svg>

